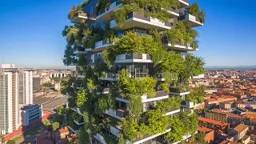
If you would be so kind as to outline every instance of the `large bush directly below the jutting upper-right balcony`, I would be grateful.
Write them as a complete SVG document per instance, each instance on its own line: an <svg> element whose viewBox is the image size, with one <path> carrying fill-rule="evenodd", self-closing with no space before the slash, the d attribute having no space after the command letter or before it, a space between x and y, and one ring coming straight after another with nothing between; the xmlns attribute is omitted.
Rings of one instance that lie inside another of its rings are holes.
<svg viewBox="0 0 256 144"><path fill-rule="evenodd" d="M195 46L197 46L198 43L195 39L197 37L198 32L192 30L191 26L186 25L184 22L177 22L174 28L166 31L166 38L171 42L172 46L176 45L177 42L186 47L192 44L191 46L195 50L197 48Z"/></svg>

